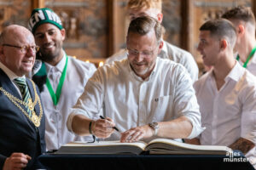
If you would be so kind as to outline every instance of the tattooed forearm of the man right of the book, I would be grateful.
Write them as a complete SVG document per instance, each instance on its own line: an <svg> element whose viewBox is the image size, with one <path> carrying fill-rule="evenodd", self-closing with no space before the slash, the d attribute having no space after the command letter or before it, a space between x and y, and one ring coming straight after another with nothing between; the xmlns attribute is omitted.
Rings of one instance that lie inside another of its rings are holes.
<svg viewBox="0 0 256 170"><path fill-rule="evenodd" d="M249 150L252 150L254 146L255 144L253 144L252 141L240 138L237 139L236 142L234 142L233 144L230 144L229 147L232 150L241 150L241 152L245 155Z"/></svg>

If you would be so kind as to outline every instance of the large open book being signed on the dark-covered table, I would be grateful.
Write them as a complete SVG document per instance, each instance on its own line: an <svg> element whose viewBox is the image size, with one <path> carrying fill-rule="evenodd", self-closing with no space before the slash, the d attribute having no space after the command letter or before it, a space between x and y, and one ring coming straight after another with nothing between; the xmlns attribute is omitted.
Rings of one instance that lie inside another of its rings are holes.
<svg viewBox="0 0 256 170"><path fill-rule="evenodd" d="M100 141L99 143L73 142L64 144L55 154L88 154L88 155L224 155L232 150L227 146L185 144L172 139L153 139L148 144L144 142L120 143L119 141Z"/></svg>

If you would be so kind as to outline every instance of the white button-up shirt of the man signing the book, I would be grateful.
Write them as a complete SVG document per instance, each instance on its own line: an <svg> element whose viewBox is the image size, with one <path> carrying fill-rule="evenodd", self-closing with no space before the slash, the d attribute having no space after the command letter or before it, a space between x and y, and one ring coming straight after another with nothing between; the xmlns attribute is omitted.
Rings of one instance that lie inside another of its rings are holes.
<svg viewBox="0 0 256 170"><path fill-rule="evenodd" d="M102 108L104 116L112 118L121 132L178 116L186 116L192 123L189 138L203 130L191 78L182 65L170 59L157 58L154 70L144 81L131 70L127 59L98 68L73 107L67 128L72 131L72 119L77 114L98 119ZM119 137L115 132L107 140Z"/></svg>

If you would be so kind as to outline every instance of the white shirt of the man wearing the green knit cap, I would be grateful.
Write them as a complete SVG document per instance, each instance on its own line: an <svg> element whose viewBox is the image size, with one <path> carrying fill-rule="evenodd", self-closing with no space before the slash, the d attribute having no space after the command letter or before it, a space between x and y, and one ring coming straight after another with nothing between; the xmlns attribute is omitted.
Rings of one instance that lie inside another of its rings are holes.
<svg viewBox="0 0 256 170"><path fill-rule="evenodd" d="M65 54L55 66L45 63L47 77L54 92L59 84L65 64ZM41 92L41 98L45 113L45 142L47 150L57 150L62 144L67 144L73 140L84 140L70 133L67 130L66 122L70 112L69 109L75 105L79 96L83 94L86 82L95 71L95 65L68 57L67 75L57 105L53 104L49 90L46 84L44 84L44 91Z"/></svg>

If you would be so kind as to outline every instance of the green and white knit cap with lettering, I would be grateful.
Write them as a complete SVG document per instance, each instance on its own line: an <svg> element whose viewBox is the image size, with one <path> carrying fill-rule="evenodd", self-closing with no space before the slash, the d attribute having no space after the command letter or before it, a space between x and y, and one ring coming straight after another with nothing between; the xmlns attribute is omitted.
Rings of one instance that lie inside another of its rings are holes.
<svg viewBox="0 0 256 170"><path fill-rule="evenodd" d="M32 10L28 22L28 29L34 33L38 26L50 23L57 26L60 30L63 28L60 17L50 8L35 8Z"/></svg>

